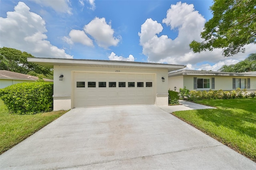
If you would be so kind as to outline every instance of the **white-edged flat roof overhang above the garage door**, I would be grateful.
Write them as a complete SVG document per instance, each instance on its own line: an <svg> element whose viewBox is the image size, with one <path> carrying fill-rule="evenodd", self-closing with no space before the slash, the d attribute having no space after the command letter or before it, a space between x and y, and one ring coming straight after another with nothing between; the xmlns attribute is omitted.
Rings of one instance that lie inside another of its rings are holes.
<svg viewBox="0 0 256 170"><path fill-rule="evenodd" d="M168 69L168 72L183 69L185 65L143 63L134 61L111 61L111 60L91 60L91 59L57 59L57 58L36 58L27 59L28 62L44 65L53 68L60 66L80 66L80 67L107 67L107 68L133 68L133 69Z"/></svg>

